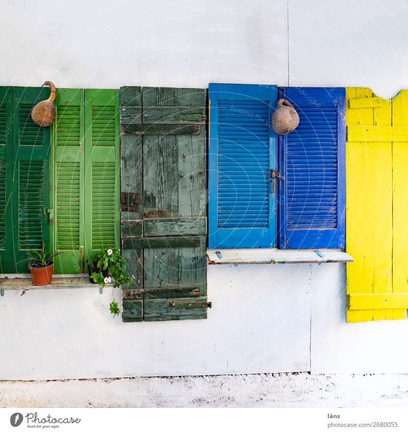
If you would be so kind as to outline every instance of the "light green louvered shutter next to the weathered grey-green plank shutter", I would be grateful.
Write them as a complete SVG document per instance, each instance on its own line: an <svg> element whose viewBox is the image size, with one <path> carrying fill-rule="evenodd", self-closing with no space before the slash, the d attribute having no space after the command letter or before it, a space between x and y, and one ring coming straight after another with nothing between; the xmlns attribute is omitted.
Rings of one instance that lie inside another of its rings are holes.
<svg viewBox="0 0 408 433"><path fill-rule="evenodd" d="M119 92L85 90L85 256L119 246Z"/></svg>

